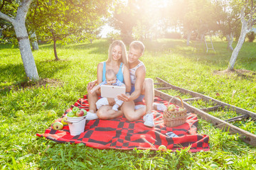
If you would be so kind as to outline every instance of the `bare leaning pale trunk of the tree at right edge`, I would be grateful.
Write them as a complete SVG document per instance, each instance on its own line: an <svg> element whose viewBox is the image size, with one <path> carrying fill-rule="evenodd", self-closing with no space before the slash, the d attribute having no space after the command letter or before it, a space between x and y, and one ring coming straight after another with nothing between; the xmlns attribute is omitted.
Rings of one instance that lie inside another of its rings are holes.
<svg viewBox="0 0 256 170"><path fill-rule="evenodd" d="M230 62L228 64L229 70L234 69L235 61L238 58L238 52L241 50L243 42L245 42L245 36L247 33L249 33L250 29L252 28L251 25L248 26L249 21L245 21L245 7L243 7L241 10L241 22L242 22L241 33L240 33L240 37L238 39L238 44L235 46L235 49L233 50L231 58L230 58Z"/></svg>

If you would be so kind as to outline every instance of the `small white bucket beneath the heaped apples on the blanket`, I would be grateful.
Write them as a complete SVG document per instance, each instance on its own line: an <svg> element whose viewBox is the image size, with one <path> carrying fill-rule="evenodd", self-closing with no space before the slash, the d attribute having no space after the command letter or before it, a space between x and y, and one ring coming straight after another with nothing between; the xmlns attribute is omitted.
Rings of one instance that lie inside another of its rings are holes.
<svg viewBox="0 0 256 170"><path fill-rule="evenodd" d="M68 117L68 128L70 129L70 135L80 135L85 132L86 115L81 117Z"/></svg>

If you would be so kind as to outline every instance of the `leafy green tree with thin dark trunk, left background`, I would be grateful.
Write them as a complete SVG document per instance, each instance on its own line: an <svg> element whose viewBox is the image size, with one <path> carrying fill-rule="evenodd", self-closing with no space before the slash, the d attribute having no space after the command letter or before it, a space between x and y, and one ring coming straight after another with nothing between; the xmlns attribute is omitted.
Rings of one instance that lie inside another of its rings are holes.
<svg viewBox="0 0 256 170"><path fill-rule="evenodd" d="M56 44L95 38L109 4L111 0L37 0L31 4L28 23L38 38L53 42L55 60L59 60Z"/></svg>

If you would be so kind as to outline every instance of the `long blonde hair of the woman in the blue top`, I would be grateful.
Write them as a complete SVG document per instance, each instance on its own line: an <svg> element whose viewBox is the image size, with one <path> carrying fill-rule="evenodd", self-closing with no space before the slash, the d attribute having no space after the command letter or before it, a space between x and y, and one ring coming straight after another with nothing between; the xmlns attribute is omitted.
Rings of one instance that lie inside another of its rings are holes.
<svg viewBox="0 0 256 170"><path fill-rule="evenodd" d="M120 60L124 63L124 65L126 65L128 67L127 50L126 50L126 47L124 45L124 42L122 42L122 40L114 40L114 42L112 42L112 44L110 45L110 48L109 48L109 55L108 55L107 62L112 62L112 51L113 51L114 47L117 45L120 46L122 49L122 58Z"/></svg>

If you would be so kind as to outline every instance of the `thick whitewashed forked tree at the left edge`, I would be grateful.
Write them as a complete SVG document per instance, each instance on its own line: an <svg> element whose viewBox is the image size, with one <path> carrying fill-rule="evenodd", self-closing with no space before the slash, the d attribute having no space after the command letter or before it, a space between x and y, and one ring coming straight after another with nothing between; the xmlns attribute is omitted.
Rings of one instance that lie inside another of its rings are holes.
<svg viewBox="0 0 256 170"><path fill-rule="evenodd" d="M2 10L4 9L4 7L6 7L17 11L16 16L9 16L8 12L0 12L0 18L9 21L14 26L26 76L29 79L38 80L39 76L36 69L36 63L32 55L30 42L28 40L28 32L25 26L26 14L28 13L28 8L32 0L23 0L19 4L17 2L1 1Z"/></svg>

